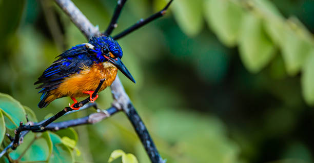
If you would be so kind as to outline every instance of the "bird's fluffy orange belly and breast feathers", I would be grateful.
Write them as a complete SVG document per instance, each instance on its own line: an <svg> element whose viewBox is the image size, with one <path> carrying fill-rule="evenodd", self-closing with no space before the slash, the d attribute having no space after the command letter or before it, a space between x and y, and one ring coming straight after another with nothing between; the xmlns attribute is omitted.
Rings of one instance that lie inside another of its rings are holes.
<svg viewBox="0 0 314 163"><path fill-rule="evenodd" d="M83 70L78 74L73 74L66 77L60 86L49 92L46 102L51 102L56 98L64 96L82 97L88 96L84 91L94 91L101 79L106 79L100 91L103 91L107 86L110 86L115 79L117 68L111 64L93 64L91 67L83 67Z"/></svg>

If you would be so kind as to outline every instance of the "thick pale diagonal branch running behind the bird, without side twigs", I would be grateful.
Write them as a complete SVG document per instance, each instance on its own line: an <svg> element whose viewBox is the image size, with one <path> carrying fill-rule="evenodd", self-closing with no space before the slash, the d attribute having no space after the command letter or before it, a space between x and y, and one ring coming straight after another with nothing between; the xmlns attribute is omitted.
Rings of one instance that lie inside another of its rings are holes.
<svg viewBox="0 0 314 163"><path fill-rule="evenodd" d="M87 20L87 18L82 14L82 12L70 0L55 0L55 1L68 14L70 19L74 23L74 25L78 29L80 29L87 38L90 38L94 35L99 35L100 33L99 31L93 31L93 32L85 31L89 28L93 28L93 29L95 28ZM71 4L71 5L68 5L68 4ZM165 7L165 9L167 9L169 5L170 3ZM70 8L68 9L67 6L70 6ZM79 16L75 15L76 13L80 15ZM75 20L73 21L73 19ZM117 109L122 109L126 113L136 133L139 135L151 162L153 163L165 162L160 156L158 150L156 149L154 142L152 141L142 119L140 118L140 115L136 112L135 108L133 107L131 103L129 96L126 94L124 87L119 79L119 76L116 76L110 88L111 88L112 96L114 98L112 106L116 107Z"/></svg>

